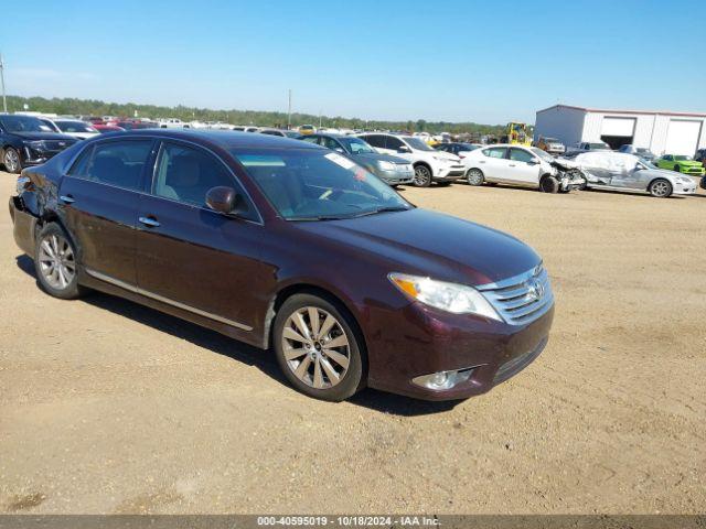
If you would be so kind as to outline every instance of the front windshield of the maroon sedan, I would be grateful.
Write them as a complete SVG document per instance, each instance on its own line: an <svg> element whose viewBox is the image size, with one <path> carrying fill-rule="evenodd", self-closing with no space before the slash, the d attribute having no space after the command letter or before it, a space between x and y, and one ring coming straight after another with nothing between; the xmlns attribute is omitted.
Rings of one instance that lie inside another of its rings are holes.
<svg viewBox="0 0 706 529"><path fill-rule="evenodd" d="M287 220L330 220L414 206L360 165L320 149L233 149Z"/></svg>

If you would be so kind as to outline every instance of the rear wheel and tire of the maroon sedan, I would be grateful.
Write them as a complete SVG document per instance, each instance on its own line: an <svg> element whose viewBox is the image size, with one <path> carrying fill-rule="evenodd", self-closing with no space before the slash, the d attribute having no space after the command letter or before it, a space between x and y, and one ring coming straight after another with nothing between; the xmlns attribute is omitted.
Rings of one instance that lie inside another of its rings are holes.
<svg viewBox="0 0 706 529"><path fill-rule="evenodd" d="M40 230L34 256L34 270L44 292L61 300L75 300L86 293L78 284L76 247L58 224L50 223Z"/></svg>

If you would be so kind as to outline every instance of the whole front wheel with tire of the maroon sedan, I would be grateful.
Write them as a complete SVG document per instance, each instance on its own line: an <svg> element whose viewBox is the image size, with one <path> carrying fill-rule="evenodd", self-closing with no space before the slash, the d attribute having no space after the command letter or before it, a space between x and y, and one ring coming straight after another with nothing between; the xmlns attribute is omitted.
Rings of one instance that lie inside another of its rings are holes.
<svg viewBox="0 0 706 529"><path fill-rule="evenodd" d="M312 316L318 319L313 325ZM315 336L317 327L325 334ZM287 380L315 399L340 402L353 396L364 386L363 341L355 328L338 303L304 293L287 299L272 328L277 363ZM341 345L327 348L334 342Z"/></svg>

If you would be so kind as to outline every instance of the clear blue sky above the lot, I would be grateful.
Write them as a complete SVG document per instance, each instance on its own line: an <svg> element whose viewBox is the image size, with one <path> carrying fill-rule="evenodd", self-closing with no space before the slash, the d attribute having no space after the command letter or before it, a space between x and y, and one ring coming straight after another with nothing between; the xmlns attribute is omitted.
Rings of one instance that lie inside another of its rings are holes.
<svg viewBox="0 0 706 529"><path fill-rule="evenodd" d="M33 0L7 93L363 119L706 111L702 0Z"/></svg>

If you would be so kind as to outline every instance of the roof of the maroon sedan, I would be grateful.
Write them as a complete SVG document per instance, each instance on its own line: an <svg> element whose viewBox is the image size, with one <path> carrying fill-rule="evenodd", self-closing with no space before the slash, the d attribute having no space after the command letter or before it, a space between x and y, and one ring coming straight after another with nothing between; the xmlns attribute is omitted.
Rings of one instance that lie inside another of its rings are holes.
<svg viewBox="0 0 706 529"><path fill-rule="evenodd" d="M292 149L319 149L319 145L292 138L271 134L253 134L235 130L204 130L204 129L137 129L129 132L116 132L105 134L101 138L142 136L152 138L186 140L196 143L212 143L223 149L238 148L292 148Z"/></svg>

